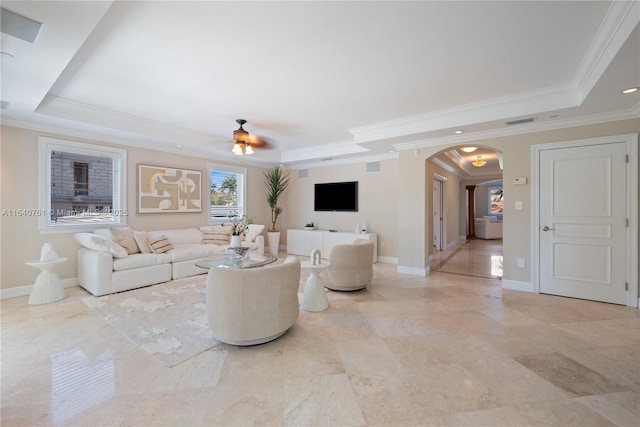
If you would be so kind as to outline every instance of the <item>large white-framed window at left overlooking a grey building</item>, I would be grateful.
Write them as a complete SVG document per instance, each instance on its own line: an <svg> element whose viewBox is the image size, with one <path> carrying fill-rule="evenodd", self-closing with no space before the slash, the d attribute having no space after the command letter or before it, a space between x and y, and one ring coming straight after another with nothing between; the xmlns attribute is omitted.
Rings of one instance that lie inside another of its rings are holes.
<svg viewBox="0 0 640 427"><path fill-rule="evenodd" d="M39 159L41 232L126 224L125 150L41 137Z"/></svg>

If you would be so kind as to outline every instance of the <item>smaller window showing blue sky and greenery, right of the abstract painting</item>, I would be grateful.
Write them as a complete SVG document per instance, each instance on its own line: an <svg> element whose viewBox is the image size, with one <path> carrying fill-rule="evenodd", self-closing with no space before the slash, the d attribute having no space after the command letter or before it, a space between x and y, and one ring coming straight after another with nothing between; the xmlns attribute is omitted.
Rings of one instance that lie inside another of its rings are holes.
<svg viewBox="0 0 640 427"><path fill-rule="evenodd" d="M229 215L244 215L246 203L245 168L209 164L209 222L221 223Z"/></svg>

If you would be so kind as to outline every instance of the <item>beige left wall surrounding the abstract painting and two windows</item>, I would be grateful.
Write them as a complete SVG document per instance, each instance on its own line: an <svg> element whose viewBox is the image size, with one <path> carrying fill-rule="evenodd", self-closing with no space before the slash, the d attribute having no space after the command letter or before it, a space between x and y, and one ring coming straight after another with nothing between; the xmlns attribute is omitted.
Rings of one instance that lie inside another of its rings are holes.
<svg viewBox="0 0 640 427"><path fill-rule="evenodd" d="M2 127L0 146L2 170L1 208L37 209L38 206L38 137L49 136L68 141L86 141L42 132ZM103 144L112 145L112 144ZM137 230L159 230L169 228L199 227L207 224L207 212L202 213L136 213L136 166L138 163L171 166L200 170L203 173L203 191L206 196L207 163L224 163L214 158L184 156L176 153L152 151L127 147L127 223ZM256 217L256 223L267 224L269 207L264 198L263 168L247 166L247 212ZM253 196L253 197L251 197ZM37 217L0 218L1 240L1 288L31 285L38 271L25 265L25 261L38 259L45 242L52 243L60 256L69 261L58 268L62 279L77 277L76 253L79 245L73 233L40 234Z"/></svg>

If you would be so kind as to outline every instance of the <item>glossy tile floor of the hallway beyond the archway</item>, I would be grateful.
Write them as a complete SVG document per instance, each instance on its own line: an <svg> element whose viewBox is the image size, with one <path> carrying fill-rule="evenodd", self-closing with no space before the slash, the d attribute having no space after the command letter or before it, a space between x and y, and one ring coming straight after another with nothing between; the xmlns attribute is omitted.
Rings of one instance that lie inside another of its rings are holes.
<svg viewBox="0 0 640 427"><path fill-rule="evenodd" d="M451 251L437 251L433 255L431 271L502 278L502 239L467 240Z"/></svg>

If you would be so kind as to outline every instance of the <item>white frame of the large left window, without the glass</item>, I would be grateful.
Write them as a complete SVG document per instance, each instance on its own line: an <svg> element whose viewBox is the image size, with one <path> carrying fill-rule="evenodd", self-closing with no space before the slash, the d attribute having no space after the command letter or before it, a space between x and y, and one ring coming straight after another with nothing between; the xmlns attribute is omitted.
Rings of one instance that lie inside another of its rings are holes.
<svg viewBox="0 0 640 427"><path fill-rule="evenodd" d="M52 223L51 218L51 152L63 151L98 157L111 157L119 160L113 173L112 211L113 221L93 223ZM92 231L96 228L127 225L127 151L122 148L104 145L67 141L63 139L38 138L38 207L42 215L38 216L38 231L41 234L77 233Z"/></svg>

